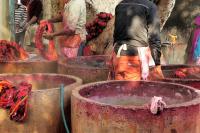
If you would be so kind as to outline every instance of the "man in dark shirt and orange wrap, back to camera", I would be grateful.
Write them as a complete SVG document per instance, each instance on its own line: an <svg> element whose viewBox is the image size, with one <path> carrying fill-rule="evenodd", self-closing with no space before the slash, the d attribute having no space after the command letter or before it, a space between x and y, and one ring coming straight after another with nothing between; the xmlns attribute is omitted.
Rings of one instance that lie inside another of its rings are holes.
<svg viewBox="0 0 200 133"><path fill-rule="evenodd" d="M149 48L155 62L154 71L162 78L160 19L156 5L149 0L122 0L115 8L114 26L115 79L147 79Z"/></svg>

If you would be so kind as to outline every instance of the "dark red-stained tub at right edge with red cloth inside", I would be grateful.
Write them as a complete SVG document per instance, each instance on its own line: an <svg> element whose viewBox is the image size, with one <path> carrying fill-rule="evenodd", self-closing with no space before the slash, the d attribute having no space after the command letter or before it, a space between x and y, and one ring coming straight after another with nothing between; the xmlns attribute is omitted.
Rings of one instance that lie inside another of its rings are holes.
<svg viewBox="0 0 200 133"><path fill-rule="evenodd" d="M172 83L179 83L188 85L194 88L197 88L200 90L200 73L192 73L189 74L186 78L178 78L175 75L175 71L179 68L198 68L200 69L200 66L196 65L166 65L162 66L163 74L165 76L165 79L162 81L165 82L172 82Z"/></svg>

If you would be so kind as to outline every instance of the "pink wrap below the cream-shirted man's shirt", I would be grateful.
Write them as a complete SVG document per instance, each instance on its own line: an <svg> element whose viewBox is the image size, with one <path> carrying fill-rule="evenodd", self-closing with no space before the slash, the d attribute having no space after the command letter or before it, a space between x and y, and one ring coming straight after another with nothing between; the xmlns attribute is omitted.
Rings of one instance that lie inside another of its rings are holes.
<svg viewBox="0 0 200 133"><path fill-rule="evenodd" d="M64 47L64 48L62 48L62 53L67 58L77 57L78 48L67 48L67 47Z"/></svg>

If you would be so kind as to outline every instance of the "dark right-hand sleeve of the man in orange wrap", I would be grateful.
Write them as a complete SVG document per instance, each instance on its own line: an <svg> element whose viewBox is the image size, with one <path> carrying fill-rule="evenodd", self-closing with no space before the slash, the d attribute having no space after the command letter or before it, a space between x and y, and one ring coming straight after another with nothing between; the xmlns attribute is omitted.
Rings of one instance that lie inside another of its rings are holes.
<svg viewBox="0 0 200 133"><path fill-rule="evenodd" d="M148 16L148 40L151 49L151 54L155 65L160 65L161 57L161 41L160 41L160 17L158 15L156 5L149 9Z"/></svg>

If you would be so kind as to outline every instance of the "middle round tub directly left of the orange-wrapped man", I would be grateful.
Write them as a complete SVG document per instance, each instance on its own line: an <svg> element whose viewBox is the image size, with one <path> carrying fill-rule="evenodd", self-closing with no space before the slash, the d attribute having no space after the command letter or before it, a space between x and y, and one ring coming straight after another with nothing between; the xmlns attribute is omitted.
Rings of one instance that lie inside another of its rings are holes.
<svg viewBox="0 0 200 133"><path fill-rule="evenodd" d="M109 56L79 56L58 62L58 73L80 77L83 83L108 79Z"/></svg>

